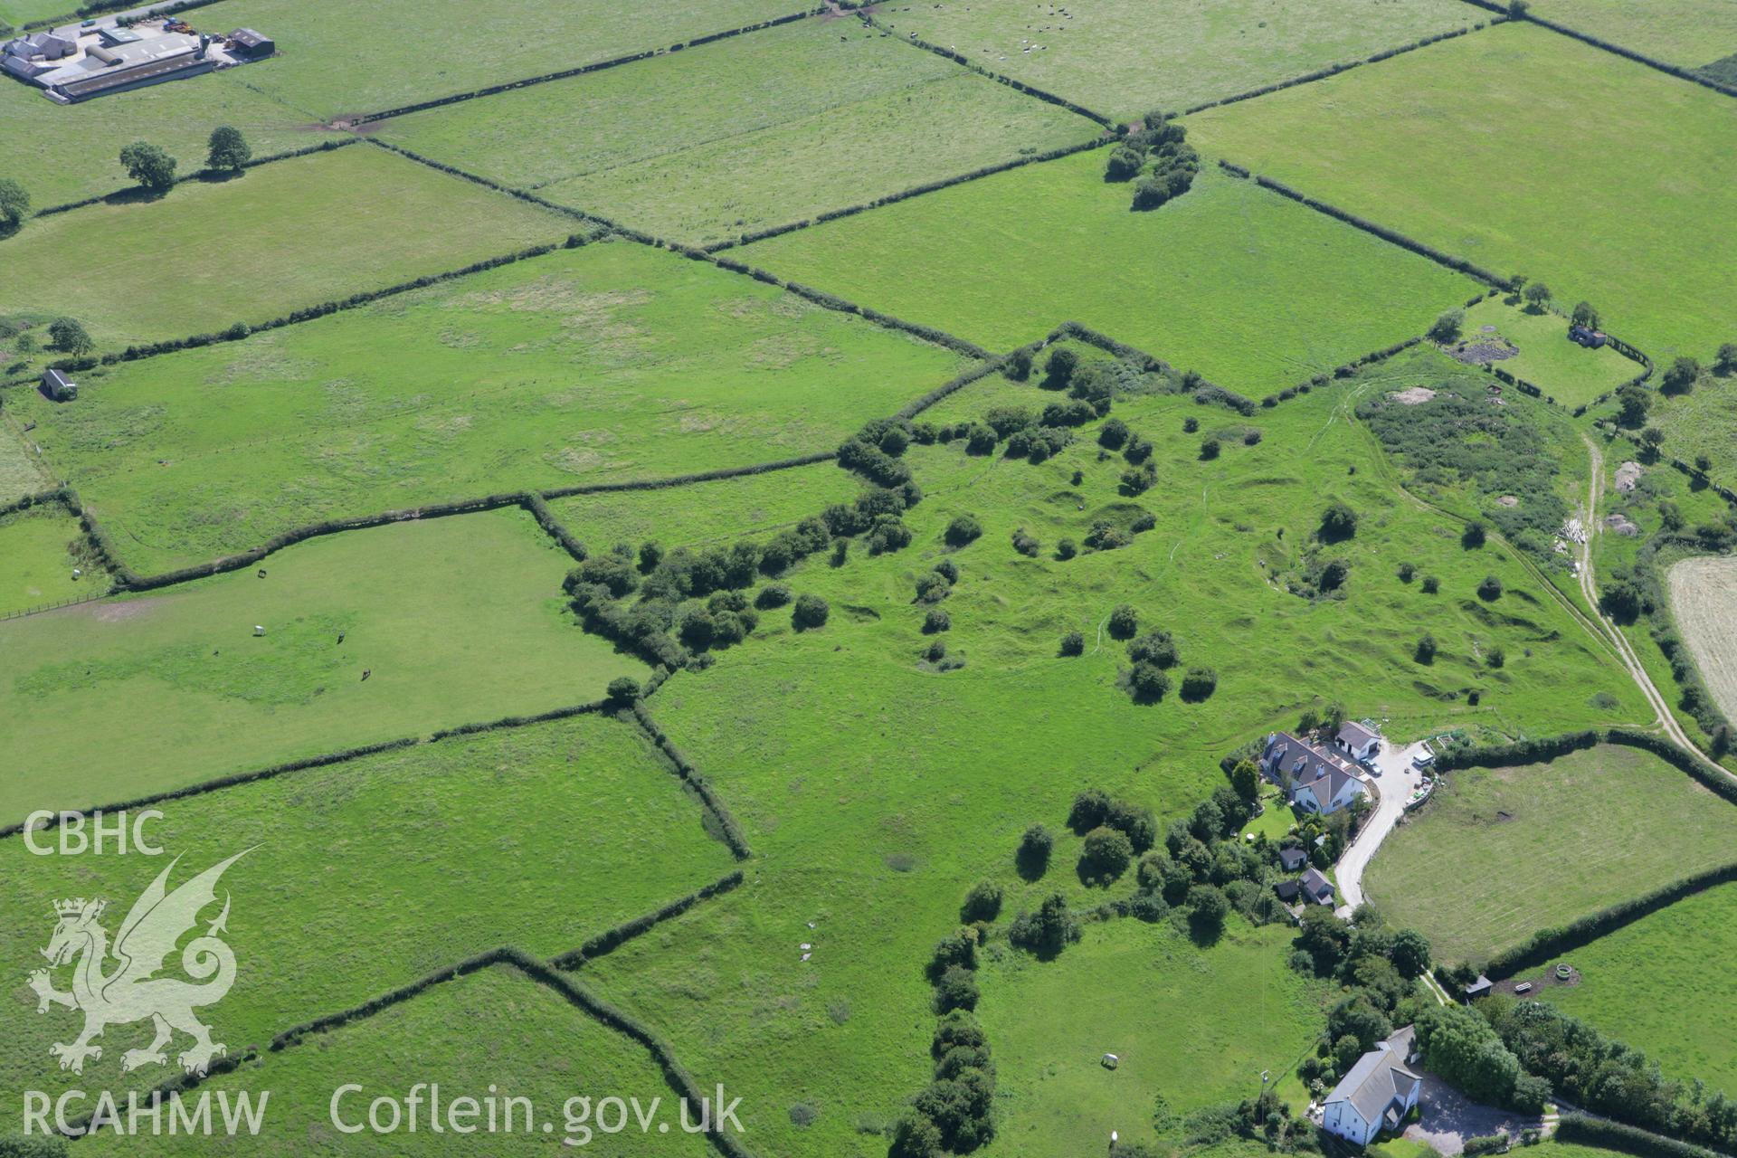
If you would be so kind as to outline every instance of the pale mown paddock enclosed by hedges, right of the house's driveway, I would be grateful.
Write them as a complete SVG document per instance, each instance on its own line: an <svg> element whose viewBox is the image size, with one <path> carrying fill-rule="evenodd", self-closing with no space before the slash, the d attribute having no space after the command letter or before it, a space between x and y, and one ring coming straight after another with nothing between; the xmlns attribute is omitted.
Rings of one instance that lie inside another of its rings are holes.
<svg viewBox="0 0 1737 1158"><path fill-rule="evenodd" d="M1440 960L1487 960L1537 929L1732 859L1737 809L1657 757L1602 747L1449 773L1364 884Z"/></svg>

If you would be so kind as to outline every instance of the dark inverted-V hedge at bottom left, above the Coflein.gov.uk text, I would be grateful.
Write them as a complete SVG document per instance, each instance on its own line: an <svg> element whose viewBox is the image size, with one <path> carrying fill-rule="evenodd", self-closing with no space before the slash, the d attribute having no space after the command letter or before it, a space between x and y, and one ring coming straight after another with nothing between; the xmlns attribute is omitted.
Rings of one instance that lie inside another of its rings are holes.
<svg viewBox="0 0 1737 1158"><path fill-rule="evenodd" d="M650 1054L651 1059L657 1063L669 1087L677 1095L684 1097L688 1104L698 1104L700 1099L705 1097L705 1094L700 1090L700 1085L695 1082L693 1075L688 1073L688 1069L681 1064L681 1061L677 1061L676 1052L670 1049L670 1045L664 1042L664 1038L660 1038L650 1026L646 1026L637 1017L627 1014L625 1010L617 1009L615 1005L604 1002L591 990L578 984L575 979L552 969L547 962L537 960L535 957L516 946L502 946L483 953L476 953L474 957L467 957L462 962L424 974L417 981L398 986L394 990L387 990L386 993L368 998L367 1002L353 1005L342 1012L327 1014L325 1017L316 1017L313 1021L304 1021L301 1024L295 1024L273 1036L271 1043L266 1047L264 1052L281 1054L283 1050L302 1045L304 1040L309 1036L325 1035L334 1030L342 1030L346 1026L363 1023L373 1017L375 1014L393 1009L394 1005L410 1002L426 993L427 990L434 988L436 984L457 981L460 977L467 977L485 969L493 969L500 965L518 970L533 984L540 984L547 990L552 990L561 998L565 998L568 1005L578 1009L582 1014L585 1014L598 1024L629 1038L631 1042L644 1049L646 1054ZM170 1078L168 1082L163 1082L162 1085L155 1087L155 1092L163 1095L186 1092L196 1089L198 1085L203 1085L210 1078L236 1071L243 1064L259 1059L261 1059L261 1050L257 1049L247 1049L240 1054L219 1057L212 1063L210 1069L205 1075L181 1075L177 1078ZM96 1120L94 1116L80 1118L71 1125L83 1130L83 1134L75 1135L75 1141L76 1137L89 1137L90 1134L101 1128L101 1122ZM735 1135L724 1134L721 1128L707 1128L705 1137L721 1155L724 1155L724 1158L754 1158L754 1153L750 1149L747 1149L740 1141L736 1141Z"/></svg>

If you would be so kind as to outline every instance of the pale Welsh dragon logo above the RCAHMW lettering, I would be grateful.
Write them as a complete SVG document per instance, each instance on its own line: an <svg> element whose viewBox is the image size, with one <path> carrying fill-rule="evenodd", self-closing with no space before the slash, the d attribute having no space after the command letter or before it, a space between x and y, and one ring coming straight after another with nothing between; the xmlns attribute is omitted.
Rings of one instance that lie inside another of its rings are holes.
<svg viewBox="0 0 1737 1158"><path fill-rule="evenodd" d="M168 863L151 887L146 889L127 920L120 924L115 936L115 948L109 950L108 931L99 924L106 901L56 901L54 915L59 918L49 948L42 955L49 958L49 969L36 969L30 974L30 988L36 991L36 1012L49 1012L49 1005L64 1005L85 1014L85 1030L69 1045L56 1043L49 1052L61 1059L61 1069L73 1073L85 1071L85 1059L102 1059L102 1047L90 1040L102 1036L102 1030L130 1021L151 1019L156 1038L146 1049L130 1049L122 1054L122 1071L141 1066L162 1066L168 1063L163 1047L179 1030L193 1038L175 1061L188 1073L203 1075L212 1057L226 1054L222 1042L212 1042L210 1026L193 1016L195 1009L215 1005L234 984L234 951L219 939L228 931L229 894L224 892L222 911L203 936L188 941L181 950L181 969L195 981L193 984L177 977L158 977L168 957L175 951L175 943L198 924L200 910L217 899L217 880L231 865L247 856L252 849L236 852L228 861L207 868L203 873L167 891L168 873L174 872L177 856ZM113 970L104 972L109 955L118 962ZM73 965L73 988L61 993L54 988L52 969L76 958ZM208 977L208 981L207 981Z"/></svg>

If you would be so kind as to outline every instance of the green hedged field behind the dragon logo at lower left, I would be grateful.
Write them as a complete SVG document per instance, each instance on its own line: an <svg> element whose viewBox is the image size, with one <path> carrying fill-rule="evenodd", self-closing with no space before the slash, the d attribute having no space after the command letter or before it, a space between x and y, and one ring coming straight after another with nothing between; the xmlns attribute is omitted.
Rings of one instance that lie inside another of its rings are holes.
<svg viewBox="0 0 1737 1158"><path fill-rule="evenodd" d="M52 901L106 898L102 924L113 936L172 856L181 861L168 887L245 851L221 882L229 896L226 941L238 962L234 988L201 1014L231 1054L504 944L533 957L577 948L712 884L733 865L650 741L604 715L287 773L165 802L162 811L151 826L167 851L162 858L33 856L17 837L0 840L10 885L0 955L16 962L3 988L12 1028L0 1043L0 1089L57 1094L127 1082L149 1087L170 1076L162 1068L122 1076L123 1049L149 1040L141 1024L111 1026L102 1057L87 1063L82 1080L56 1069L49 1045L71 1040L75 1014L38 1017L24 964L42 964L35 950L52 932ZM54 981L64 990L69 976L63 967ZM464 1092L481 1094L499 1080L490 1064L512 1050L507 1040L469 1036L483 1056L460 1054L457 1073L472 1083ZM314 1038L304 1050L323 1054L335 1040ZM177 1038L175 1049L186 1040ZM526 1061L547 1066L552 1057ZM568 1073L575 1083L589 1078ZM264 1075L254 1089L273 1082ZM19 1099L9 1102L0 1128L12 1132Z"/></svg>

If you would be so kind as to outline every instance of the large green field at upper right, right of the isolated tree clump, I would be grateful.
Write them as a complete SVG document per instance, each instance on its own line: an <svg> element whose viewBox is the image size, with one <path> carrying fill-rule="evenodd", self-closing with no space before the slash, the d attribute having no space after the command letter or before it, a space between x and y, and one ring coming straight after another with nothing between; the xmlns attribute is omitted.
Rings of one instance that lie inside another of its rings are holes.
<svg viewBox="0 0 1737 1158"><path fill-rule="evenodd" d="M1734 337L1737 102L1699 85L1503 24L1188 125L1258 174L1589 300L1657 363Z"/></svg>

